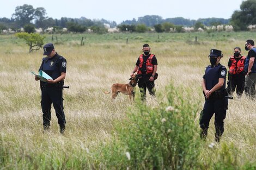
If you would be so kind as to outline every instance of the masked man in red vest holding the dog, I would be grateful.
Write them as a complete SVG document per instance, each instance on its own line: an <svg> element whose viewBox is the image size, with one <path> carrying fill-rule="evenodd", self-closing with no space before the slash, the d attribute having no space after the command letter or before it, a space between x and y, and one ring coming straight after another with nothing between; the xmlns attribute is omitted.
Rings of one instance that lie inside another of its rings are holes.
<svg viewBox="0 0 256 170"><path fill-rule="evenodd" d="M154 54L150 53L150 47L146 43L143 45L141 54L136 62L136 66L131 72L131 77L137 72L139 75L138 86L141 91L142 99L146 97L148 88L149 94L155 96L155 79L157 78L157 59Z"/></svg>

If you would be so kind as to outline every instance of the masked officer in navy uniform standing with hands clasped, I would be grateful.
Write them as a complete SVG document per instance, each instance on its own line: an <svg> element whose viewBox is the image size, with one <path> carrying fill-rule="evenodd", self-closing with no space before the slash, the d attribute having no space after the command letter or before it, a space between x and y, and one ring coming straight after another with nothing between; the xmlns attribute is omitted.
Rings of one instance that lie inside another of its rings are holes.
<svg viewBox="0 0 256 170"><path fill-rule="evenodd" d="M221 51L211 49L209 59L211 65L206 67L202 87L205 96L204 109L200 113L200 137L205 139L208 134L211 117L215 114L215 141L220 142L224 131L224 119L228 109L228 99L225 98L225 79L227 69L220 64Z"/></svg>

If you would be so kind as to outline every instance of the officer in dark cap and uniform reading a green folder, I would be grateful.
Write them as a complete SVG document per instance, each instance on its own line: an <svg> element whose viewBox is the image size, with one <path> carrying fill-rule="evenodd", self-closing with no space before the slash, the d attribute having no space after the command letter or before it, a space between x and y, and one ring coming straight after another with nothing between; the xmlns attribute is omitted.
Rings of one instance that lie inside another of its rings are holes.
<svg viewBox="0 0 256 170"><path fill-rule="evenodd" d="M47 57L42 59L39 71L44 71L53 79L48 79L47 82L40 81L44 130L50 128L51 105L53 103L58 118L60 133L63 134L65 131L66 120L63 111L62 90L64 79L66 77L66 59L57 54L52 43L47 43L44 46L44 55L47 55ZM35 77L35 80L38 81L39 78Z"/></svg>

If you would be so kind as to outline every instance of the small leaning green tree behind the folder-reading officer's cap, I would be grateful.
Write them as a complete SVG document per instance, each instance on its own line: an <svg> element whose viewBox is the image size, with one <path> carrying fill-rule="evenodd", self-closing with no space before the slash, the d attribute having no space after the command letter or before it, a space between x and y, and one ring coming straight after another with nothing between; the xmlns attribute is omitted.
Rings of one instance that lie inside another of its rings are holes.
<svg viewBox="0 0 256 170"><path fill-rule="evenodd" d="M45 36L41 36L36 33L16 33L19 39L25 40L26 44L29 46L29 53L32 51L38 51L44 45Z"/></svg>

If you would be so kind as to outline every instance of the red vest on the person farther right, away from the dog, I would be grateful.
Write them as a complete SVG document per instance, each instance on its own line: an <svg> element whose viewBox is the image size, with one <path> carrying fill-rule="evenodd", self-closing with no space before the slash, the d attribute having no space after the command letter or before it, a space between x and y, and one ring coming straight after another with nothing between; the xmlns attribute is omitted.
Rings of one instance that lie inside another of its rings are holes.
<svg viewBox="0 0 256 170"><path fill-rule="evenodd" d="M234 56L230 57L231 66L229 67L230 74L239 74L245 67L245 56L242 56L240 60L236 61Z"/></svg>

